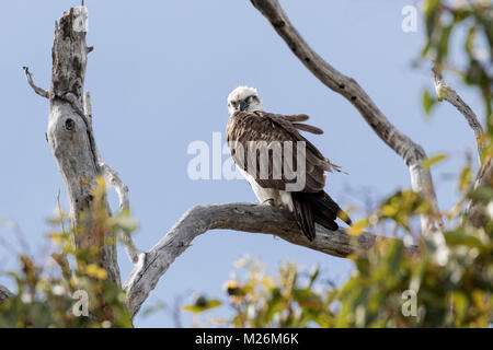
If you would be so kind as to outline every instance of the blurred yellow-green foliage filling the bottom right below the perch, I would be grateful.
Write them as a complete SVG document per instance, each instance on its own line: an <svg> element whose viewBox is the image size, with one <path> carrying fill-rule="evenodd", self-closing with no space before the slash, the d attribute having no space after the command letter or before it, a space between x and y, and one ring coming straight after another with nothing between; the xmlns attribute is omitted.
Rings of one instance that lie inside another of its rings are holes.
<svg viewBox="0 0 493 350"><path fill-rule="evenodd" d="M463 187L463 185L462 185ZM468 197L493 202L489 189L466 190ZM491 205L490 205L491 206ZM413 233L410 218L427 213L429 206L412 191L385 200L366 219L386 221L405 234L404 240L381 242L368 254L352 256L348 281L322 288L319 269L302 282L302 272L289 262L268 276L257 261L242 259L243 280L227 282L231 327L488 327L493 323L493 221L473 228L463 214L460 224L422 237ZM454 211L454 212L452 212ZM452 209L449 222L458 215ZM490 210L491 211L491 210ZM394 232L398 232L397 230ZM442 235L442 233L436 233ZM419 254L410 249L410 241ZM408 292L406 292L408 291ZM416 296L415 312L409 300ZM205 312L203 310L202 312Z"/></svg>

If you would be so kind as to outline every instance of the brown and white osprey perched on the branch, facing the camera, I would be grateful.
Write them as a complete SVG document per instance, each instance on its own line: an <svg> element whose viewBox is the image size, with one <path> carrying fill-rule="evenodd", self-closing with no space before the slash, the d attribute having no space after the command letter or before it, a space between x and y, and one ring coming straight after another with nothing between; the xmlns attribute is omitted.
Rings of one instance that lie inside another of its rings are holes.
<svg viewBox="0 0 493 350"><path fill-rule="evenodd" d="M325 159L299 133L323 133L319 128L301 124L309 119L307 115L264 112L256 89L248 86L238 86L229 94L228 112L230 118L226 137L231 156L262 203L291 211L310 241L316 237L316 222L335 231L339 229L335 222L339 217L351 225L348 215L323 190L325 172L341 172L341 167ZM270 147L273 143L283 143L283 149L277 149L280 152L276 153L276 148ZM300 151L303 151L301 160L295 156ZM267 163L264 170L261 170L262 154ZM279 164L283 165L282 172ZM297 173L302 175L303 183L293 189L298 180L293 176L295 167L303 171L302 174ZM264 176L261 176L263 171Z"/></svg>

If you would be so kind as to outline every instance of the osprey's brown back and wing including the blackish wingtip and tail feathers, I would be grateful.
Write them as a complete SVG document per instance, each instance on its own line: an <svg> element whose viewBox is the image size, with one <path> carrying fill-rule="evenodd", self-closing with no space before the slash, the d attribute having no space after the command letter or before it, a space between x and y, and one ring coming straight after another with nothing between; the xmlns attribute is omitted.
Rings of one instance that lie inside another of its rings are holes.
<svg viewBox="0 0 493 350"><path fill-rule="evenodd" d="M249 170L249 141L264 141L267 144L274 141L291 141L294 148L291 154L283 153L280 155L282 164L285 164L285 156L293 156L297 154L296 144L298 141L305 141L306 145L306 185L301 191L291 191L293 212L298 223L298 226L308 240L312 241L316 237L316 222L325 226L329 230L337 230L339 225L335 222L336 217L345 219L351 224L347 214L345 214L339 205L323 191L325 185L325 171L340 171L337 165L332 164L326 160L322 153L306 138L303 138L299 130L321 133L322 130L300 124L300 121L308 120L306 115L283 116L270 114L265 112L255 113L234 113L226 129L227 140L230 145L231 155L238 166L252 175L261 187L275 188L285 190L287 184L293 183L285 178L283 168L283 177L279 179L273 178L273 161L274 153L268 153L268 177L259 178L260 170L260 154L253 153L252 158L256 162L256 168ZM320 132L318 132L320 130ZM238 148L238 147L241 148ZM289 163L289 162L288 162ZM297 167L296 156L293 158L294 168Z"/></svg>

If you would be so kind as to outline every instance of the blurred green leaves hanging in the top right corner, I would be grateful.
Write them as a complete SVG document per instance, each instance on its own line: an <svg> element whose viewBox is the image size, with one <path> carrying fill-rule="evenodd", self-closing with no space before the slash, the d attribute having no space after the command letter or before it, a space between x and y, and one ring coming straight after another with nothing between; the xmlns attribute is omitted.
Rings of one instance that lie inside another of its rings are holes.
<svg viewBox="0 0 493 350"><path fill-rule="evenodd" d="M422 58L432 60L439 71L447 70L458 74L462 81L481 92L486 116L492 114L491 89L493 83L493 5L490 0L475 1L423 1L426 27L426 43ZM462 39L461 52L465 63L458 65L461 57L450 50L454 32L467 33ZM423 95L423 105L428 114L435 100L428 92ZM491 130L492 120L488 126Z"/></svg>

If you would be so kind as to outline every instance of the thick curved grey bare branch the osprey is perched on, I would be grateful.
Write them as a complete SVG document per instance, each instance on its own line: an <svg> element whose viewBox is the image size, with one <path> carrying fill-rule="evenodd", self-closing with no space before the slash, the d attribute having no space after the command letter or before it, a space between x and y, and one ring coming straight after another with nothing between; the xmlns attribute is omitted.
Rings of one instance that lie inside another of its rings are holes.
<svg viewBox="0 0 493 350"><path fill-rule="evenodd" d="M210 230L234 230L273 234L289 243L337 257L364 254L378 242L392 240L363 233L349 236L344 229L329 231L317 225L317 237L310 242L299 231L293 214L283 209L264 205L228 203L194 207L188 210L168 232L168 234L134 268L124 289L127 305L135 315L154 289L160 277L169 266L192 244L192 241ZM408 248L416 253L415 247Z"/></svg>

